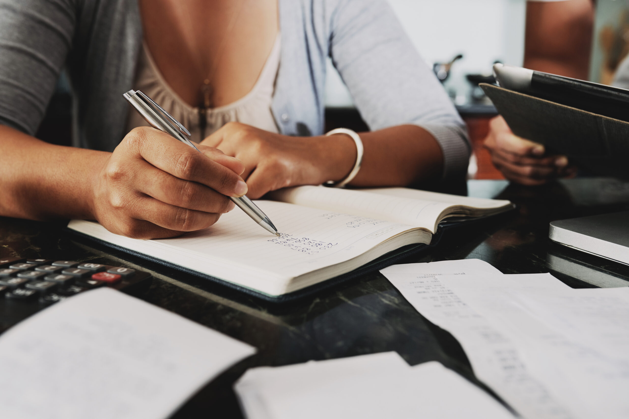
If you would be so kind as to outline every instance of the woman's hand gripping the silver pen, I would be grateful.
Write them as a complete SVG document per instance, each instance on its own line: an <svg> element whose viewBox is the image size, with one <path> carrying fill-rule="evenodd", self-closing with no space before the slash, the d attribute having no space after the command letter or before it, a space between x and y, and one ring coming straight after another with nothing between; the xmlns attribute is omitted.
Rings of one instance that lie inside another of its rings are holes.
<svg viewBox="0 0 629 419"><path fill-rule="evenodd" d="M213 147L196 151L160 130L132 130L95 179L92 214L113 233L167 238L213 225L243 196L242 162Z"/></svg>

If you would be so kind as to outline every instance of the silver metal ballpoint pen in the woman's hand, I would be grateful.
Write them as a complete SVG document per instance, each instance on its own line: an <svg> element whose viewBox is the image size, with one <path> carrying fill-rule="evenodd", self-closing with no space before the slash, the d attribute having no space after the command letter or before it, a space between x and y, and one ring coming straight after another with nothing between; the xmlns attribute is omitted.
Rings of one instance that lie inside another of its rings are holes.
<svg viewBox="0 0 629 419"><path fill-rule="evenodd" d="M178 120L174 119L172 115L162 109L160 105L153 102L150 97L140 92L140 90L129 90L123 95L123 97L131 104L133 109L138 111L138 114L142 115L142 117L147 120L153 128L164 131L166 134L172 135L175 139L187 144L196 151L201 152L196 146L194 146L194 143L188 139L190 133L186 127L181 125ZM160 112L162 112L162 114L160 114ZM175 128L173 124L177 128ZM251 201L251 199L247 198L247 196L243 195L240 198L233 198L230 196L228 198L230 198L233 203L237 204L241 210L245 211L245 213L250 216L253 221L262 226L264 230L279 236L276 226L274 226L271 220L269 220L269 217L267 217L267 215L265 215L265 213L263 213L262 210L260 210L260 208Z"/></svg>

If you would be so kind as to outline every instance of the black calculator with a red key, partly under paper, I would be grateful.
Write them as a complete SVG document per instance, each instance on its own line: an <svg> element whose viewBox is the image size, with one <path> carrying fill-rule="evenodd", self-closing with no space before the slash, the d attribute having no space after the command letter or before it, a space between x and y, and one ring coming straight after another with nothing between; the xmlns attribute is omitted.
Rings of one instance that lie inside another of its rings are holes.
<svg viewBox="0 0 629 419"><path fill-rule="evenodd" d="M0 333L39 310L99 287L133 292L150 285L138 269L74 260L0 258Z"/></svg>

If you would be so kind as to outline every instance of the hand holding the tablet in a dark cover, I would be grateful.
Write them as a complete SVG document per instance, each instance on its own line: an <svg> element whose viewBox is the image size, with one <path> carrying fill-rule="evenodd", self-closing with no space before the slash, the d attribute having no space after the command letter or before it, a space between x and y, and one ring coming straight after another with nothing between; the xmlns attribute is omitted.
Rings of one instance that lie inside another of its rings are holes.
<svg viewBox="0 0 629 419"><path fill-rule="evenodd" d="M489 122L489 134L484 146L491 160L509 181L524 185L540 185L550 179L576 174L576 167L568 166L566 156L544 156L544 146L528 141L511 132L501 116Z"/></svg>

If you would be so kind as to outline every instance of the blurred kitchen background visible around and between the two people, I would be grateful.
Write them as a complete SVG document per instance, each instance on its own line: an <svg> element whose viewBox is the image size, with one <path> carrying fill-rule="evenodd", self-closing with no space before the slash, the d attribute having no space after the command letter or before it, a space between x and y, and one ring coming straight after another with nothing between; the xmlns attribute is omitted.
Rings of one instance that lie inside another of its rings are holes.
<svg viewBox="0 0 629 419"><path fill-rule="evenodd" d="M526 0L387 0L411 41L437 76L467 124L474 154L470 179L503 179L482 147L489 120L496 115L477 87L493 82L496 61L521 66ZM589 79L609 84L629 52L629 0L597 0ZM453 62L454 60L454 62ZM70 144L71 95L62 77L37 136ZM366 130L352 97L328 61L326 129Z"/></svg>

